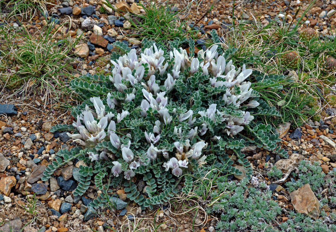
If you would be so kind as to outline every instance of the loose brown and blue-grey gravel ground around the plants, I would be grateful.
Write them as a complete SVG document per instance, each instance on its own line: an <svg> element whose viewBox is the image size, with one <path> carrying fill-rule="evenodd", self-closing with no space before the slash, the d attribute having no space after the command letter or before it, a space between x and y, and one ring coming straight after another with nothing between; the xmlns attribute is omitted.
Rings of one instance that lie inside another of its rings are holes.
<svg viewBox="0 0 336 232"><path fill-rule="evenodd" d="M271 19L283 20L284 14L280 12L289 12L288 20L292 20L297 9L299 13L293 23L301 16L310 1L236 1L234 15L243 22L248 20L260 20L262 24L268 24ZM115 2L112 1L112 4ZM144 2L148 3L148 2ZM181 9L186 5L183 1L169 1L174 4L172 10ZM205 14L210 5L214 3L214 9L206 15L199 24L194 25L199 18ZM120 3L122 4L122 3ZM138 37L129 40L127 35L134 34L129 29L128 22L124 19L127 15L119 15L106 9L109 13L99 12L102 6L101 1L62 1L59 5L48 8L49 17L35 16L32 20L34 24L23 22L32 32L41 29L47 23L54 23L55 28L58 25L69 21L69 15L72 19L72 27L68 33L73 38L82 34L81 47L78 47L77 55L81 57L84 64L80 73L95 74L108 73L110 68L109 57L113 51L114 41L122 41L130 47L137 48L140 45ZM133 12L138 12L140 7L133 1L128 1L126 5L120 7L130 8ZM175 8L176 7L176 8ZM199 27L203 29L200 32L200 38L206 39L208 32L212 29L217 30L219 34L224 34L230 26L232 18L233 3L228 1L201 1L200 5L193 4L187 14L179 15L180 18L189 18L190 27ZM312 27L322 35L335 35L334 28L336 22L336 1L317 1L304 17L304 27ZM140 11L141 12L141 11ZM19 21L10 22L12 25L20 26ZM60 31L66 33L66 28ZM57 38L61 38L57 34ZM102 36L102 38L100 37ZM98 39L98 43L97 43ZM198 41L199 43L202 40ZM54 174L47 182L41 181L41 175L45 167L53 160L55 153L59 149L70 149L77 144L69 141L66 133L51 133L49 129L55 124L71 124L72 117L69 110L63 110L56 107L44 106L44 100L38 97L28 99L25 104L17 103L17 114L13 116L2 116L0 119L0 221L16 220L14 223L22 228L33 218L32 214L24 208L29 205L29 198L34 193L37 194L36 210L39 212L38 220L30 223L24 231L111 231L106 227L120 229L127 222L127 217L135 215L139 218L150 218L144 220L139 225L146 227L153 223L156 211L141 211L134 202L130 202L126 207L116 212L105 210L104 214L90 218L90 212L87 204L99 195L99 190L92 187L83 198L74 197L72 190L77 185L79 162L69 162L62 170ZM52 102L56 104L59 102ZM76 102L68 101L72 105ZM282 135L281 145L288 150L290 157L288 159L289 168L295 167L299 159L308 159L319 161L323 172L336 168L335 151L335 128L330 121L310 122L299 129L291 128L289 124L279 128ZM276 154L264 150L258 150L256 147L245 148L247 158L252 164L256 173L265 174L269 168L265 168L265 163L270 165L283 161ZM235 157L233 156L234 160ZM294 160L294 161L293 161ZM280 162L280 163L281 163ZM279 163L278 163L279 164ZM285 173L285 172L284 172ZM264 175L266 176L266 175ZM237 179L242 176L236 176ZM261 178L258 176L258 178ZM268 185L274 180L268 180ZM282 187L282 184L274 186L274 197L279 205L284 208L293 209L291 198L288 192ZM139 186L138 186L139 187ZM124 190L113 189L113 192L119 195L122 202L128 203ZM166 205L167 206L167 205ZM159 209L157 209L159 210ZM207 229L201 227L192 228L194 214L190 215L172 215L169 208L164 208L158 212L155 220L163 224L160 230L173 228L179 231L213 231L215 220L207 224ZM335 209L332 209L335 213ZM175 214L182 213L180 207ZM197 215L198 224L203 221L204 216ZM282 221L286 220L286 215L282 216ZM104 229L105 228L105 229ZM7 231L6 228L0 228Z"/></svg>

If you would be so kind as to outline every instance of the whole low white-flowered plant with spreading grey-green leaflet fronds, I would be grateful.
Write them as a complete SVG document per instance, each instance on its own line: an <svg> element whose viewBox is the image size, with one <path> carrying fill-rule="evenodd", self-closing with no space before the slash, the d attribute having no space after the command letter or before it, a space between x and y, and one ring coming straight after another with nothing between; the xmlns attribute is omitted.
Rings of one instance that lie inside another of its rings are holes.
<svg viewBox="0 0 336 232"><path fill-rule="evenodd" d="M226 175L238 174L228 150L248 177L252 169L240 152L244 144L286 156L276 145L273 129L256 121L256 115L273 109L264 109L265 102L251 89L252 69L236 68L227 59L234 50L219 54L218 45L194 56L194 41L188 42L190 53L177 41L169 48L144 41L139 55L116 42L125 54L111 55L111 76L89 75L71 82L86 100L73 109L75 132L68 135L85 147L75 156L91 167L81 166L86 179L74 194L83 194L95 174L99 189L108 189L104 179L111 177L110 185L127 187L129 199L152 207L177 192L181 180L182 191L190 191L192 179L184 174L202 166L217 165ZM146 194L134 185L139 179L147 185Z"/></svg>

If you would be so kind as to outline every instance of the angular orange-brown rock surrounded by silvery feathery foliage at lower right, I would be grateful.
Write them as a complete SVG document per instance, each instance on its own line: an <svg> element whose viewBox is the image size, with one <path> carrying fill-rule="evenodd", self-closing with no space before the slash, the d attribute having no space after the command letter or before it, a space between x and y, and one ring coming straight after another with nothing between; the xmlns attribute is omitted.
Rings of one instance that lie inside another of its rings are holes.
<svg viewBox="0 0 336 232"><path fill-rule="evenodd" d="M298 190L290 194L294 210L297 213L307 215L313 219L318 219L320 216L320 202L311 191L310 185L305 184Z"/></svg>

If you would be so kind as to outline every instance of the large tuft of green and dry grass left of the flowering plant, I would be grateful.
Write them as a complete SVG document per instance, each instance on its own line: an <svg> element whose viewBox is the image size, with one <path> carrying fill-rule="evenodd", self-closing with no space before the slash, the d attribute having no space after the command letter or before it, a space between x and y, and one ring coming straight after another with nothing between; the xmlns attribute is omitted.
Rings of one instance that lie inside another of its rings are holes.
<svg viewBox="0 0 336 232"><path fill-rule="evenodd" d="M61 25L56 31L61 31ZM73 47L78 40L70 36L55 39L53 26L49 25L39 32L31 34L25 27L0 28L1 84L15 92L55 94L64 87L64 80L70 77L69 64ZM71 68L70 68L71 69Z"/></svg>

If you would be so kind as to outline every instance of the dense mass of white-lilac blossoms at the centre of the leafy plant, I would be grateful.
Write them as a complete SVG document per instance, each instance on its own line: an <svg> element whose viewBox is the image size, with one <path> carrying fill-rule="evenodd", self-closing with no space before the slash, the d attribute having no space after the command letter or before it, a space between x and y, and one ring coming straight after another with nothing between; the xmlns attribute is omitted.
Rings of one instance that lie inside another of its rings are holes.
<svg viewBox="0 0 336 232"><path fill-rule="evenodd" d="M73 123L78 133L68 135L89 148L92 162L111 161L112 175L127 180L151 163L176 177L205 165L210 140L237 135L259 105L246 81L252 70L236 69L217 48L190 57L153 44L139 57L131 49L112 60L114 89L91 97Z"/></svg>

